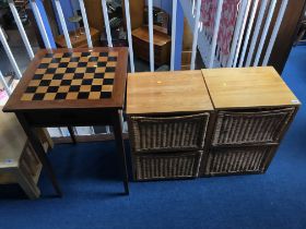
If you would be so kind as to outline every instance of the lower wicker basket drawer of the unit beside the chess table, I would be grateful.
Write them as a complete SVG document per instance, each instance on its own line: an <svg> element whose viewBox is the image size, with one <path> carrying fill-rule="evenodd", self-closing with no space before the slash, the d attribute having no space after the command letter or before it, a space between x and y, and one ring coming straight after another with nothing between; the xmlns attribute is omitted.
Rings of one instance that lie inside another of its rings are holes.
<svg viewBox="0 0 306 229"><path fill-rule="evenodd" d="M134 179L164 180L196 178L202 152L133 155Z"/></svg>

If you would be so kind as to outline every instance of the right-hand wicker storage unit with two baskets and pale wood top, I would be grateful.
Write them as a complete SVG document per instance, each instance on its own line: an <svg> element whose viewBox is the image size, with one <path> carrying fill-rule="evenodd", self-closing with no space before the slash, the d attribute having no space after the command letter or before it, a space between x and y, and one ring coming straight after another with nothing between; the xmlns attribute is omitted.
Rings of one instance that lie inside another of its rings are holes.
<svg viewBox="0 0 306 229"><path fill-rule="evenodd" d="M273 68L202 70L216 112L200 176L264 172L299 101Z"/></svg>

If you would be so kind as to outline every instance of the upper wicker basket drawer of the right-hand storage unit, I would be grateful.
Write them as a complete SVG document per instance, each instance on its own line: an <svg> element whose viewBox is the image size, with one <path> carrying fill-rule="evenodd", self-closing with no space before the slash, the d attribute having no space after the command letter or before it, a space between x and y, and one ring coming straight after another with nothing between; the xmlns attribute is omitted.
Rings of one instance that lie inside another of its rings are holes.
<svg viewBox="0 0 306 229"><path fill-rule="evenodd" d="M266 111L220 111L213 145L275 143L289 124L295 108Z"/></svg>

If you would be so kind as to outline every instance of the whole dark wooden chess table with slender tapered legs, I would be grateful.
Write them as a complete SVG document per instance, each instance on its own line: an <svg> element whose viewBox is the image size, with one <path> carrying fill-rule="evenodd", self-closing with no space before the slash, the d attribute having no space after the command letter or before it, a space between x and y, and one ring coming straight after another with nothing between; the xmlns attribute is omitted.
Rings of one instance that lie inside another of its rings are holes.
<svg viewBox="0 0 306 229"><path fill-rule="evenodd" d="M60 189L34 128L114 125L128 193L120 120L127 62L127 48L40 50L3 108L15 112L58 194Z"/></svg>

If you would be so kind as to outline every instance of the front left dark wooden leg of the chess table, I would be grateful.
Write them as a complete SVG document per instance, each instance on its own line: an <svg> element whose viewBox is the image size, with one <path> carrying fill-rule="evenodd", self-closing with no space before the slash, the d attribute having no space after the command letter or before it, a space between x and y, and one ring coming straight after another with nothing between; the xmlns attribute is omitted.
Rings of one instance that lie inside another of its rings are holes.
<svg viewBox="0 0 306 229"><path fill-rule="evenodd" d="M50 164L50 161L49 161L49 159L48 159L48 157L47 157L47 155L44 150L44 147L43 147L39 138L37 137L35 131L27 123L26 118L22 113L16 113L16 117L17 117L21 125L23 126L23 130L26 133L28 141L32 144L32 147L34 148L37 157L39 158L39 160L43 165L43 168L46 169L47 174L48 174L49 179L51 180L57 194L59 196L62 196L62 193L61 193L60 186L57 182L52 166L51 166L51 164Z"/></svg>

